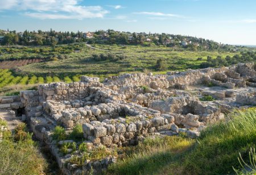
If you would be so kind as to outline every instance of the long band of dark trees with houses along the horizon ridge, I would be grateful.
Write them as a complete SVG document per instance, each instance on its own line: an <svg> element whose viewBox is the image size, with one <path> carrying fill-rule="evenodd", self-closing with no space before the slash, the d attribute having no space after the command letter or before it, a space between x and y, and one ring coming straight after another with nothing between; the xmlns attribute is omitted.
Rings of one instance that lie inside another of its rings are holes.
<svg viewBox="0 0 256 175"><path fill-rule="evenodd" d="M181 41L189 41L188 49L193 51L201 51L205 49L209 50L225 50L230 51L234 47L230 45L223 45L212 40L203 38L196 38L192 36L183 35L171 35L171 34L146 34L142 33L130 33L119 32L114 30L108 31L96 31L93 33L92 39L85 39L84 34L81 31L77 32L57 32L50 31L24 31L16 33L16 31L10 31L9 34L4 34L0 31L0 36L5 36L1 44L4 45L52 45L57 44L71 44L89 41L89 43L98 44L143 44L150 45L154 43L156 45L167 45L167 47L181 47ZM191 43L190 43L191 41ZM147 44L145 44L147 43Z"/></svg>

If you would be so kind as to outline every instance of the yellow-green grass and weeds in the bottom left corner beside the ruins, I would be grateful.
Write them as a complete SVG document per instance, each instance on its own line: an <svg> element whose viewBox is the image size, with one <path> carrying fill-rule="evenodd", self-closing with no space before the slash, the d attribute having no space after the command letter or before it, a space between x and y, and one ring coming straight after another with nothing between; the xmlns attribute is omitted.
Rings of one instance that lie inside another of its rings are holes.
<svg viewBox="0 0 256 175"><path fill-rule="evenodd" d="M6 123L0 120L0 125L6 126ZM10 131L3 133L3 140L0 141L0 174L43 174L47 163L31 136L24 126L16 128L14 135Z"/></svg>

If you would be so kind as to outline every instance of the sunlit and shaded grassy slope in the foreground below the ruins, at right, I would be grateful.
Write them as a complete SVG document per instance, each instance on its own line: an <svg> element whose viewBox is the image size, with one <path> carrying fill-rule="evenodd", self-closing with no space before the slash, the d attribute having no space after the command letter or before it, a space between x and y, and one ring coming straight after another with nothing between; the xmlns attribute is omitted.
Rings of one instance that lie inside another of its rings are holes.
<svg viewBox="0 0 256 175"><path fill-rule="evenodd" d="M234 112L230 118L208 127L197 141L179 137L147 140L124 151L123 160L112 165L109 174L234 173L232 166L240 168L239 153L246 160L250 147L256 146L256 109Z"/></svg>

